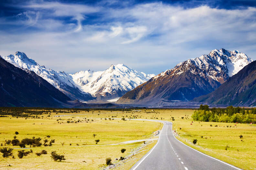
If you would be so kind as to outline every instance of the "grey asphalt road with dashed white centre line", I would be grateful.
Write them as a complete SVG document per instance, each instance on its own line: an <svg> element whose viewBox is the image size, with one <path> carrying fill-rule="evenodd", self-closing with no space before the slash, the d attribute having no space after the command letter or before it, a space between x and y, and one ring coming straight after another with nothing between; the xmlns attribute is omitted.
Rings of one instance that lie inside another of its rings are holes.
<svg viewBox="0 0 256 170"><path fill-rule="evenodd" d="M157 120L156 120L157 121ZM130 170L236 170L240 169L207 156L178 141L172 123L163 122L157 144Z"/></svg>

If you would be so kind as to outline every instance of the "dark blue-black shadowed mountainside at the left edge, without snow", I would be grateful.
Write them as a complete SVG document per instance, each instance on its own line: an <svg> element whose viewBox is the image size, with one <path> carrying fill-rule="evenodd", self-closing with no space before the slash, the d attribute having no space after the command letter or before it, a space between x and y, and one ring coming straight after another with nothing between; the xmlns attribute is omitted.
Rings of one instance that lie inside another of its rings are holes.
<svg viewBox="0 0 256 170"><path fill-rule="evenodd" d="M0 106L63 107L70 100L33 71L22 70L0 57Z"/></svg>

